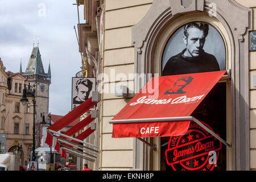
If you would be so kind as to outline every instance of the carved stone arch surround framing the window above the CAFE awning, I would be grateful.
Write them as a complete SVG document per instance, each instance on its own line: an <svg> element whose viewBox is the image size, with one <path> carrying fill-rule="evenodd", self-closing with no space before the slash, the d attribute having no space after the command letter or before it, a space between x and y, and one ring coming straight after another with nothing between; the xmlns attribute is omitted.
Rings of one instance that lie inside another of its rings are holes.
<svg viewBox="0 0 256 182"><path fill-rule="evenodd" d="M232 152L236 170L250 169L249 31L253 28L253 10L234 0L154 0L150 10L132 27L135 73L159 73L154 54L160 35L168 24L183 15L208 14L216 5L216 19L225 28L231 45ZM232 10L232 12L230 12ZM157 64L161 64L160 61ZM135 78L135 92L148 80ZM139 86L137 86L139 85Z"/></svg>

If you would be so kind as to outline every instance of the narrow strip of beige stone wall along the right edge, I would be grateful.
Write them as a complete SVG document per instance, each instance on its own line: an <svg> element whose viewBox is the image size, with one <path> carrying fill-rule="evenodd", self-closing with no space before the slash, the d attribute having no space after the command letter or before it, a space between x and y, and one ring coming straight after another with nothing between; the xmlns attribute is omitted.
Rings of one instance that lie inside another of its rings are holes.
<svg viewBox="0 0 256 182"><path fill-rule="evenodd" d="M256 1L236 0L245 7L254 10L254 30L256 31ZM256 88L253 86L253 76L256 75L256 52L250 52L250 168L256 170Z"/></svg>

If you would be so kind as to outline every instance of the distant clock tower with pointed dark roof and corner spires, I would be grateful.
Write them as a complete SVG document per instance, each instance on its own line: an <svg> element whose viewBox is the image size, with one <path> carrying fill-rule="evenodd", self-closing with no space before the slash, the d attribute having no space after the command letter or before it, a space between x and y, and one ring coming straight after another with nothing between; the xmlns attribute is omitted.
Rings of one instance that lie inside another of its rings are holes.
<svg viewBox="0 0 256 182"><path fill-rule="evenodd" d="M22 65L20 63L19 72L27 78L27 82L30 85L35 85L35 97L36 97L36 107L35 107L35 127L36 130L36 148L40 147L40 129L41 122L43 121L43 116L47 121L47 116L49 113L49 85L51 84L51 68L50 64L48 67L48 73L44 72L44 67L42 63L42 57L39 51L39 47L33 47L30 59L27 64L25 72L22 72ZM32 108L32 103L30 107Z"/></svg>

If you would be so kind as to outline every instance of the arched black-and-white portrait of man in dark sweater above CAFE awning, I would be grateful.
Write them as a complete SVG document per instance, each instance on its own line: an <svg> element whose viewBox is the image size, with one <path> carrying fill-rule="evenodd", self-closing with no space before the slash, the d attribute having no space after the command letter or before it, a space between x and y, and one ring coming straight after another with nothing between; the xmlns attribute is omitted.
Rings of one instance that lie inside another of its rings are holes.
<svg viewBox="0 0 256 182"><path fill-rule="evenodd" d="M226 69L225 44L210 24L190 22L168 40L162 57L163 76Z"/></svg>

